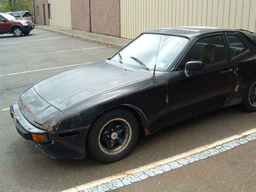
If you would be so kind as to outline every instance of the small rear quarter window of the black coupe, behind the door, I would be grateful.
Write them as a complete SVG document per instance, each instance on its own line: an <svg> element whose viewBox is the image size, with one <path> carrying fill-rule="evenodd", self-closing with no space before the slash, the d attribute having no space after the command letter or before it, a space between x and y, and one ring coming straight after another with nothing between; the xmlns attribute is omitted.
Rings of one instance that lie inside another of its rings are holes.
<svg viewBox="0 0 256 192"><path fill-rule="evenodd" d="M243 41L237 35L227 35L231 58L241 55L247 50Z"/></svg>

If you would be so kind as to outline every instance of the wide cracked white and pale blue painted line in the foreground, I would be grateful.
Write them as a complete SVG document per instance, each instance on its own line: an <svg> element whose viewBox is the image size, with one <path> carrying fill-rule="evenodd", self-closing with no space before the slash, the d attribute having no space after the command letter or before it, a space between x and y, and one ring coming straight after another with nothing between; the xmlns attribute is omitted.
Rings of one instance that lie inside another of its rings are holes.
<svg viewBox="0 0 256 192"><path fill-rule="evenodd" d="M200 161L210 156L220 154L255 139L256 129L252 129L242 134L216 141L209 145L196 148L195 150L191 150L174 157L144 165L139 168L128 170L125 173L106 177L98 181L93 181L64 191L109 191L117 189L150 177L155 177L156 175L169 172L170 170Z"/></svg>

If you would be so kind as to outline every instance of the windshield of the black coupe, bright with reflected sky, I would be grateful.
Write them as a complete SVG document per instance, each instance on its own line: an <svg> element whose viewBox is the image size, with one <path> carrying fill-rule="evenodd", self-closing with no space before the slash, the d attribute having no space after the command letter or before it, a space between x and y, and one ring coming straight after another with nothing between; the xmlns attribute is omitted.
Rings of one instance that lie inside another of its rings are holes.
<svg viewBox="0 0 256 192"><path fill-rule="evenodd" d="M145 70L154 70L156 64L157 71L165 71L187 45L188 40L178 36L142 34L112 57L111 61Z"/></svg>

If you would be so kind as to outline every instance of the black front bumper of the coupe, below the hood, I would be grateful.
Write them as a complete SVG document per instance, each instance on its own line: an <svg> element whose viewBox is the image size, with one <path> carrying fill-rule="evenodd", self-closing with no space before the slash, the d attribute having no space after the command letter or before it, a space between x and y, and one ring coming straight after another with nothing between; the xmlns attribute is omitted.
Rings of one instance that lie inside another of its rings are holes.
<svg viewBox="0 0 256 192"><path fill-rule="evenodd" d="M31 134L46 134L48 141L35 142L36 147L52 158L83 159L86 157L86 136L89 128L65 132L49 132L32 125L20 112L18 104L10 106L17 132L25 139L32 140Z"/></svg>

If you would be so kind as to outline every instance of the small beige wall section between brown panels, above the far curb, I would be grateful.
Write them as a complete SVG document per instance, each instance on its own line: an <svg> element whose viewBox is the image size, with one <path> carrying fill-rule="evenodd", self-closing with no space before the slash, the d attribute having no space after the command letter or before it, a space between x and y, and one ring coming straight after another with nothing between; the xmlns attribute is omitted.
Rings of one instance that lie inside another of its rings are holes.
<svg viewBox="0 0 256 192"><path fill-rule="evenodd" d="M48 0L51 4L52 18L49 18L50 26L65 27L71 29L70 0Z"/></svg>

